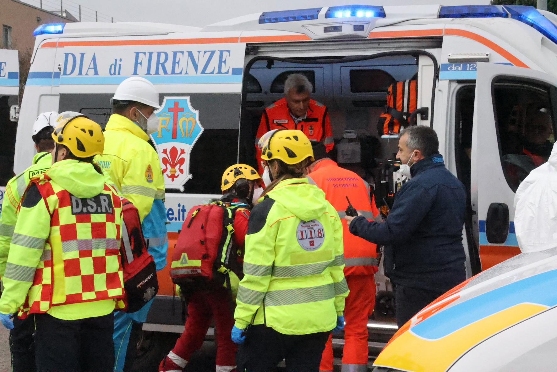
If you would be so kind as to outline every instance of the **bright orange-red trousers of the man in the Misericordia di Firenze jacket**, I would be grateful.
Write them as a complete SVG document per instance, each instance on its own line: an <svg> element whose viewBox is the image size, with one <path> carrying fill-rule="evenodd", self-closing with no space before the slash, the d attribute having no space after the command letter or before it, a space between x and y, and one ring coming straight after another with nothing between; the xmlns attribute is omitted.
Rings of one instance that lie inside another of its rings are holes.
<svg viewBox="0 0 557 372"><path fill-rule="evenodd" d="M350 371L368 370L368 317L375 306L375 276L349 275L346 283L350 293L344 305L343 366ZM321 357L320 371L333 370L333 346L331 337ZM343 369L344 371L345 369Z"/></svg>

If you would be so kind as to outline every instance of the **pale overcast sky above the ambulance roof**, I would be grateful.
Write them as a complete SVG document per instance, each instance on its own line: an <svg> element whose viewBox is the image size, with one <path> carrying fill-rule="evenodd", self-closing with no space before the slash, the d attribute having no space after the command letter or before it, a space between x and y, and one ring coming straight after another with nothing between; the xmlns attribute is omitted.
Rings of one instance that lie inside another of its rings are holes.
<svg viewBox="0 0 557 372"><path fill-rule="evenodd" d="M40 0L22 0L38 6ZM262 11L300 9L344 4L417 5L434 4L435 0L62 0L63 7L77 17L78 4L82 17L94 20L148 21L187 26L211 23ZM443 5L487 4L489 0L443 0ZM60 9L60 0L43 0L48 10Z"/></svg>

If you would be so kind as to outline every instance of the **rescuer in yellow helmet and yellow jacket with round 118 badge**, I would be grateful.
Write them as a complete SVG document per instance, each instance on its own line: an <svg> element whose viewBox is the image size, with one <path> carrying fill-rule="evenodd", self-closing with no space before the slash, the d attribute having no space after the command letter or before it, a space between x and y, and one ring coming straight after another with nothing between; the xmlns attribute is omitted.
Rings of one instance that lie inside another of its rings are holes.
<svg viewBox="0 0 557 372"><path fill-rule="evenodd" d="M243 344L237 363L264 372L284 358L287 370L319 371L331 330L344 327L343 225L304 177L313 151L303 132L268 132L259 147L272 182L248 223L232 330Z"/></svg>

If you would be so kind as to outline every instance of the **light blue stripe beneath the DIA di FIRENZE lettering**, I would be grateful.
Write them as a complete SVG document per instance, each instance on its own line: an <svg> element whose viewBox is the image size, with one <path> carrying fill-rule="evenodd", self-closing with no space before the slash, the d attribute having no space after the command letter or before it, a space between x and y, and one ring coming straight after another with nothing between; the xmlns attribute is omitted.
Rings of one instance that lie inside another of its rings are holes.
<svg viewBox="0 0 557 372"><path fill-rule="evenodd" d="M61 76L60 85L114 84L118 85L129 76ZM207 76L143 76L153 84L216 84L242 83L242 75Z"/></svg>

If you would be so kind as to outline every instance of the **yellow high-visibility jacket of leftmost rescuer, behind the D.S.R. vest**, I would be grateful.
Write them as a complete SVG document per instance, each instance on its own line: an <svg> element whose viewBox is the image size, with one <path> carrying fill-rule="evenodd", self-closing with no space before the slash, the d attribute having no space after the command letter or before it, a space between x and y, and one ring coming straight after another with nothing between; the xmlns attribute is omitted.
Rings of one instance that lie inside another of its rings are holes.
<svg viewBox="0 0 557 372"><path fill-rule="evenodd" d="M2 200L2 214L0 215L0 278L6 271L9 244L12 241L13 229L16 226L16 209L23 191L25 191L32 176L46 172L52 165L50 152L40 152L33 157L33 165L14 176L6 185Z"/></svg>

